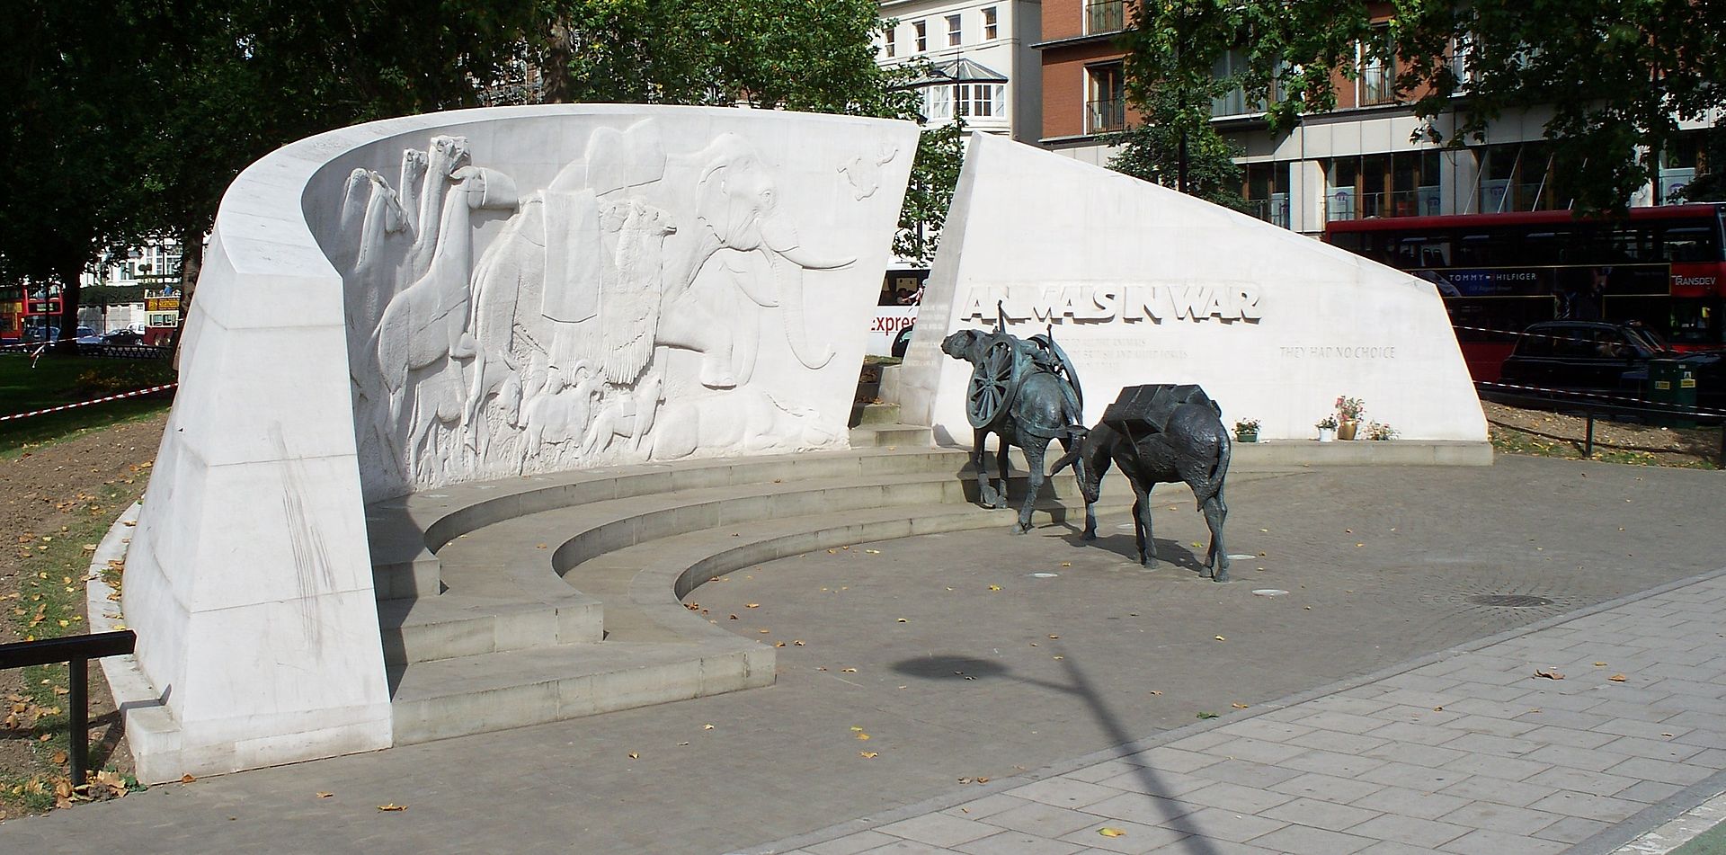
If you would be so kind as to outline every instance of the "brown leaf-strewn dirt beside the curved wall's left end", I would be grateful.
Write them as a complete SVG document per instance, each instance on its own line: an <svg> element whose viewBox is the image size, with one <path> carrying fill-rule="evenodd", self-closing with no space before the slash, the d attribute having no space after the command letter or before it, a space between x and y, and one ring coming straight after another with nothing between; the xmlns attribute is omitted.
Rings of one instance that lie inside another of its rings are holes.
<svg viewBox="0 0 1726 855"><path fill-rule="evenodd" d="M0 459L0 643L86 632L86 546L142 496L166 423L162 413ZM43 796L40 782L67 774L64 687L64 665L0 670L3 814L52 805L52 786ZM91 765L129 772L114 700L95 667L90 720L98 741Z"/></svg>

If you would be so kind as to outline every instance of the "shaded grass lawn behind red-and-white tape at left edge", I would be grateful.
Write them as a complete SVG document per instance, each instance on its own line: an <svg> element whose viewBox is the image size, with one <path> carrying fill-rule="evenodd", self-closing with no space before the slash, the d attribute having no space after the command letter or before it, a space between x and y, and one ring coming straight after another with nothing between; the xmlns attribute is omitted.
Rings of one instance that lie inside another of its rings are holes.
<svg viewBox="0 0 1726 855"><path fill-rule="evenodd" d="M167 359L97 359L45 354L31 363L29 356L0 352L0 416L171 382L174 382L174 370ZM171 401L169 392L0 421L0 458L16 458L29 447L85 430L150 416L167 409Z"/></svg>

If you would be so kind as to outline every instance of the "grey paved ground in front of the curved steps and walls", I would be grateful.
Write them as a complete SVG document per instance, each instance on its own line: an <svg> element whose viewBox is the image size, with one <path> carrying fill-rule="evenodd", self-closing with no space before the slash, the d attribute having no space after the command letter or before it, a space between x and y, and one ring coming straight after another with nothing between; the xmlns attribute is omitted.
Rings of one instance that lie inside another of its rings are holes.
<svg viewBox="0 0 1726 855"><path fill-rule="evenodd" d="M1726 563L1719 478L1239 477L1227 586L1187 497L1151 572L1120 518L791 558L690 598L785 643L770 689L154 788L0 848L1610 852L1726 769L1726 579L1669 587Z"/></svg>

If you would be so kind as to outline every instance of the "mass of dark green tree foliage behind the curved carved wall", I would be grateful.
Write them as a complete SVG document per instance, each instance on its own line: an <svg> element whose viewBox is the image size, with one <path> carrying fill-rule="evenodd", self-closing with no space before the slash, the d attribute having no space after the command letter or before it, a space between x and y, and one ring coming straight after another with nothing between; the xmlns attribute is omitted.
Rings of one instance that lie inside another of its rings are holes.
<svg viewBox="0 0 1726 855"><path fill-rule="evenodd" d="M59 282L69 328L110 249L180 238L193 278L221 193L276 147L478 104L530 64L542 100L917 116L863 0L21 2L0 282Z"/></svg>

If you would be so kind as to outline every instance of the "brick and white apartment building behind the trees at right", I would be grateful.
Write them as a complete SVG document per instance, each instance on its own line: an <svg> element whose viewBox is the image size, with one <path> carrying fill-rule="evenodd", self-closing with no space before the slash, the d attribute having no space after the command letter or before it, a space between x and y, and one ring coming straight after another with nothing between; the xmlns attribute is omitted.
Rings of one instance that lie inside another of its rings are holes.
<svg viewBox="0 0 1726 855"><path fill-rule="evenodd" d="M1391 5L1379 3L1389 21ZM1125 105L1117 36L1131 24L1125 0L1044 0L1041 145L1098 166L1113 154L1101 133L1137 116ZM1229 73L1239 57L1225 57ZM1420 119L1395 93L1395 64L1362 60L1357 79L1336 74L1338 105L1312 114L1286 135L1272 135L1263 104L1232 92L1212 104L1213 123L1244 149L1243 192L1253 211L1281 226L1317 235L1331 219L1412 214L1565 209L1562 176L1552 169L1543 136L1546 111L1507 114L1483 142L1464 150L1415 140ZM1450 117L1436 128L1450 136ZM1631 204L1660 204L1695 176L1700 130L1662 154L1659 181Z"/></svg>

